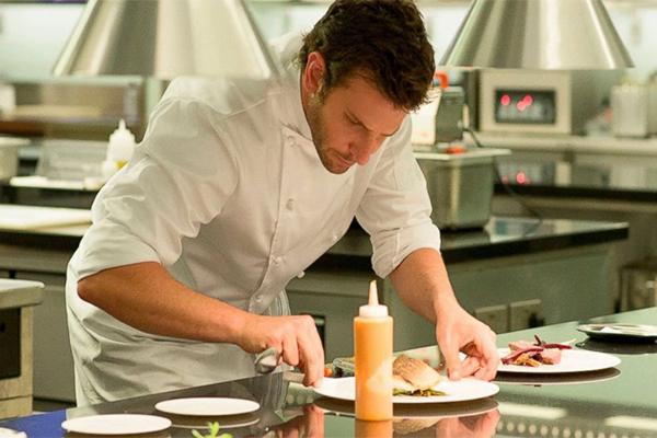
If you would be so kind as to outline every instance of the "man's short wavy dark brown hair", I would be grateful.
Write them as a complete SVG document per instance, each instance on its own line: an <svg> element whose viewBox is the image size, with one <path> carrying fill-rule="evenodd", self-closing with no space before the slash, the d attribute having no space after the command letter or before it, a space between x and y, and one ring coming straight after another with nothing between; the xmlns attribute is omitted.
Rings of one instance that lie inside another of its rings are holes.
<svg viewBox="0 0 657 438"><path fill-rule="evenodd" d="M322 99L360 74L397 107L414 111L428 101L434 48L413 0L336 0L303 38L301 71L315 50L326 61Z"/></svg>

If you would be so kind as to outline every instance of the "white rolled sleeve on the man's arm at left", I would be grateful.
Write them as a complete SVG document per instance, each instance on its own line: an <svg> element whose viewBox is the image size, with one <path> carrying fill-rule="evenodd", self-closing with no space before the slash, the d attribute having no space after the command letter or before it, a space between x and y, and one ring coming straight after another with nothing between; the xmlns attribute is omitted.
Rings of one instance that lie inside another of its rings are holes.
<svg viewBox="0 0 657 438"><path fill-rule="evenodd" d="M140 262L175 263L183 238L196 237L234 192L235 160L204 104L160 104L132 160L94 201L78 277Z"/></svg>

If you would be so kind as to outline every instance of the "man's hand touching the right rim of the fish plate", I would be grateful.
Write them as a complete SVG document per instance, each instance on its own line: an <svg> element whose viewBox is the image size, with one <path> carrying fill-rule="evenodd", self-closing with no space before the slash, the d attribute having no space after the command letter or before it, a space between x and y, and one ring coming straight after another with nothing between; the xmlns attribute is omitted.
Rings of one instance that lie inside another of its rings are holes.
<svg viewBox="0 0 657 438"><path fill-rule="evenodd" d="M441 307L437 314L436 338L447 360L450 380L473 376L493 380L497 373L499 355L495 333L477 321L459 304ZM468 357L461 362L459 351Z"/></svg>

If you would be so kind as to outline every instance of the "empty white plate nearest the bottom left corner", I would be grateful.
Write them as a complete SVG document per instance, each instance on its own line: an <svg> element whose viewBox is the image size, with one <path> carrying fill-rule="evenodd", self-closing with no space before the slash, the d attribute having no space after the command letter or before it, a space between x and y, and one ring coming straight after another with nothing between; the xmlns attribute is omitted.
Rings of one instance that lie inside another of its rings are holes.
<svg viewBox="0 0 657 438"><path fill-rule="evenodd" d="M67 419L61 424L68 431L92 435L148 434L164 430L170 426L169 418L137 414L92 415Z"/></svg>

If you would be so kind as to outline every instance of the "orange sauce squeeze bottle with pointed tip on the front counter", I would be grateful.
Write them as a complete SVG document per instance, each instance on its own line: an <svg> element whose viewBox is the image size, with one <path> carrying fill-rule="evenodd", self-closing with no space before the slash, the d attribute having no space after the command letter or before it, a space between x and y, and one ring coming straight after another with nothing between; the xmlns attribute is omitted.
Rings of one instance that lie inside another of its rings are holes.
<svg viewBox="0 0 657 438"><path fill-rule="evenodd" d="M356 418L392 418L392 316L379 304L377 281L370 283L369 302L354 319Z"/></svg>

